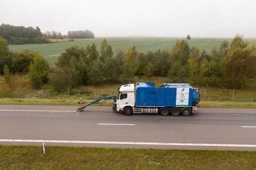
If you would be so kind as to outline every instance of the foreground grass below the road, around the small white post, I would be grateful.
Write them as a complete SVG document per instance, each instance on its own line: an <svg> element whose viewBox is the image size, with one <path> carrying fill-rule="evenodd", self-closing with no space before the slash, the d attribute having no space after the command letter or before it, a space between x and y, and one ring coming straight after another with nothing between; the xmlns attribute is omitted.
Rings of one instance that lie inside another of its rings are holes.
<svg viewBox="0 0 256 170"><path fill-rule="evenodd" d="M256 169L256 152L0 146L0 169Z"/></svg>

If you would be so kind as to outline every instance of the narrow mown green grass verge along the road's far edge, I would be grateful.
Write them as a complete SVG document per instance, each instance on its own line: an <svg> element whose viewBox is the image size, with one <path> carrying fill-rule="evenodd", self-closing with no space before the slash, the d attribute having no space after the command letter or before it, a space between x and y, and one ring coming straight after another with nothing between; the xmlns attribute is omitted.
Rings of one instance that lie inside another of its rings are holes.
<svg viewBox="0 0 256 170"><path fill-rule="evenodd" d="M94 99L84 99L80 104L79 99L9 99L0 98L1 104L11 105L84 105L90 103ZM94 105L112 105L113 100ZM256 102L246 101L200 101L201 108L256 108Z"/></svg>

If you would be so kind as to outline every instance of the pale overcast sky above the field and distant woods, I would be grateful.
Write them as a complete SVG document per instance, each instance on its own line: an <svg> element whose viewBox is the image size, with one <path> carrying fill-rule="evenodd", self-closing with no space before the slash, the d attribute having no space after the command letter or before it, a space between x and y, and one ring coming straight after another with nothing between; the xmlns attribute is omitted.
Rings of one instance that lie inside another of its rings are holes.
<svg viewBox="0 0 256 170"><path fill-rule="evenodd" d="M256 38L255 0L0 0L0 24L96 37Z"/></svg>

